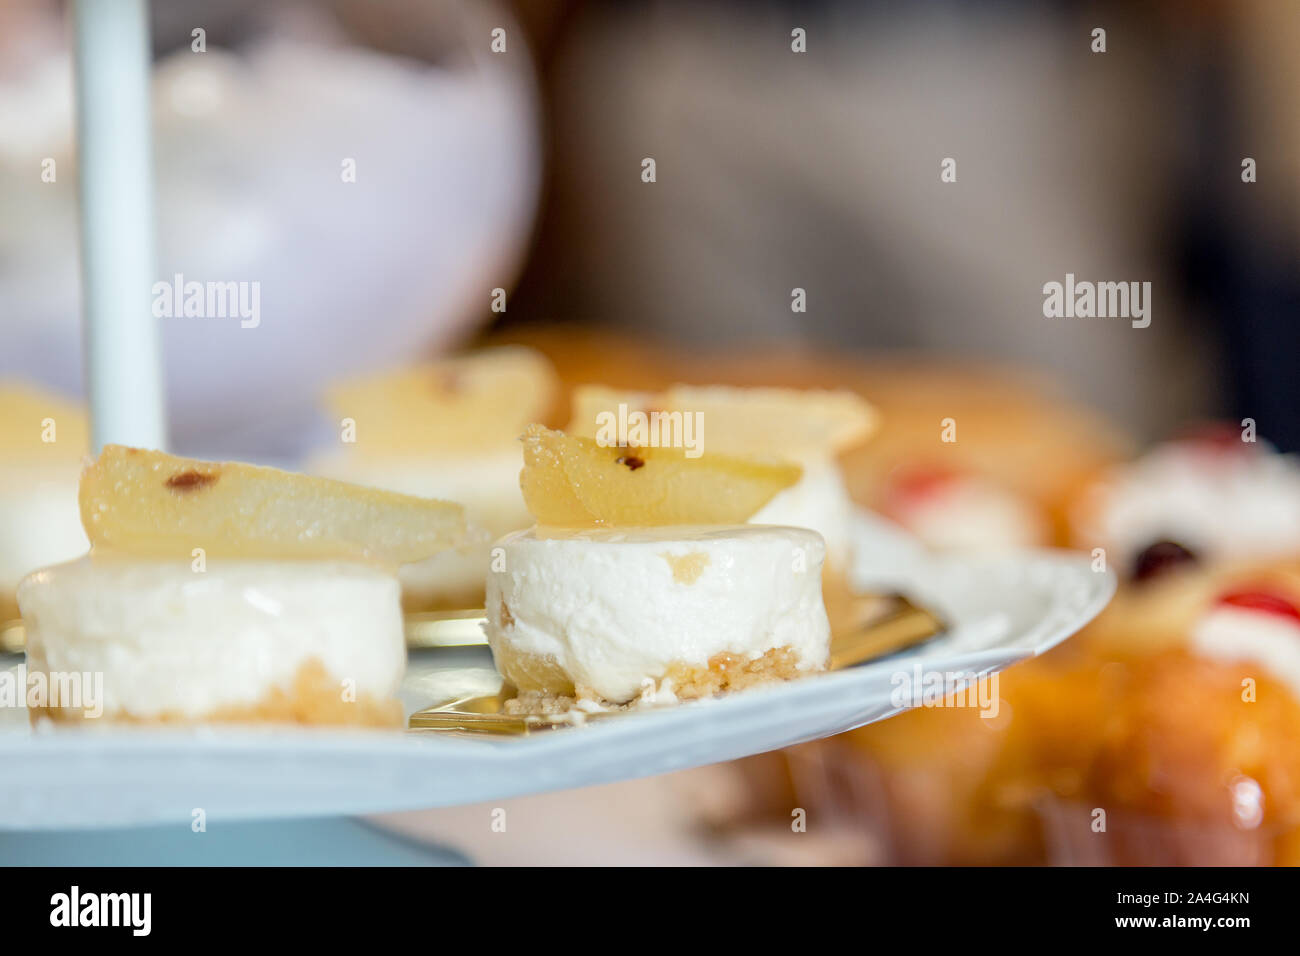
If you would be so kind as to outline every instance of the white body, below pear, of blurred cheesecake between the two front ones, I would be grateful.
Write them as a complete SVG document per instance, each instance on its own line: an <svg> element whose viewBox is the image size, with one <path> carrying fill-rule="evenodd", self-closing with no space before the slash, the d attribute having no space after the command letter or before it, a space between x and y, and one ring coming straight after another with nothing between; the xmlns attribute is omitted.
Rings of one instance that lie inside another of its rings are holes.
<svg viewBox="0 0 1300 956"><path fill-rule="evenodd" d="M533 523L519 490L519 444L455 457L373 457L334 454L308 471L325 477L400 494L455 501L469 524L464 542L428 561L400 568L408 606L477 605L491 542Z"/></svg>

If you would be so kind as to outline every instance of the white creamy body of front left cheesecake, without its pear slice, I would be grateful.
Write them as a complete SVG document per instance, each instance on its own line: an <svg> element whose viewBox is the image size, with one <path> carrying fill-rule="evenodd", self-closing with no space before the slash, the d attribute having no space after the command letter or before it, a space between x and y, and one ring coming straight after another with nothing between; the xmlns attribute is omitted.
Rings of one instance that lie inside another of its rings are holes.
<svg viewBox="0 0 1300 956"><path fill-rule="evenodd" d="M29 671L101 674L105 718L391 723L396 580L346 562L82 558L18 589Z"/></svg>

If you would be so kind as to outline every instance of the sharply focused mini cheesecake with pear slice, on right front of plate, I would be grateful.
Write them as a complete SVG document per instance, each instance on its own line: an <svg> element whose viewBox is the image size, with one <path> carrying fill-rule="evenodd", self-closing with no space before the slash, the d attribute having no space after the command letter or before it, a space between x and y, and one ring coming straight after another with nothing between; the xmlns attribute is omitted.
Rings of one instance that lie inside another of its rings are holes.
<svg viewBox="0 0 1300 956"><path fill-rule="evenodd" d="M672 702L827 666L826 542L745 524L798 466L541 425L523 444L537 525L497 541L486 585L512 706Z"/></svg>

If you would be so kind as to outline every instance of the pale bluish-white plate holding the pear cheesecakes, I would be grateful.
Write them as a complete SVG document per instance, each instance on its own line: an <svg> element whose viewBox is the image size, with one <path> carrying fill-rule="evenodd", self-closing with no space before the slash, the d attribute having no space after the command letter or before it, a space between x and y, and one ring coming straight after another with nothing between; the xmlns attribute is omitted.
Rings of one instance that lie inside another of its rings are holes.
<svg viewBox="0 0 1300 956"><path fill-rule="evenodd" d="M871 663L520 736L204 727L32 730L0 709L0 829L90 829L448 806L646 777L772 750L906 709L900 675L984 676L1053 648L1110 600L1087 555L935 555L867 514L854 583L939 613L946 631ZM4 658L0 658L4 659ZM10 657L5 667L21 666ZM494 693L486 648L413 650L408 711Z"/></svg>

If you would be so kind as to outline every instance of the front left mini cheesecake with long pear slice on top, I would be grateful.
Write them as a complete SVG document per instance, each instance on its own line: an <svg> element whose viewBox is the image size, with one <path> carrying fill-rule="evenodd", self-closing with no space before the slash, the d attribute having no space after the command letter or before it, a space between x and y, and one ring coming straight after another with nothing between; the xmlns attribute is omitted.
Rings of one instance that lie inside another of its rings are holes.
<svg viewBox="0 0 1300 956"><path fill-rule="evenodd" d="M398 566L458 505L109 445L82 473L83 559L18 588L29 674L95 675L32 718L399 726Z"/></svg>

